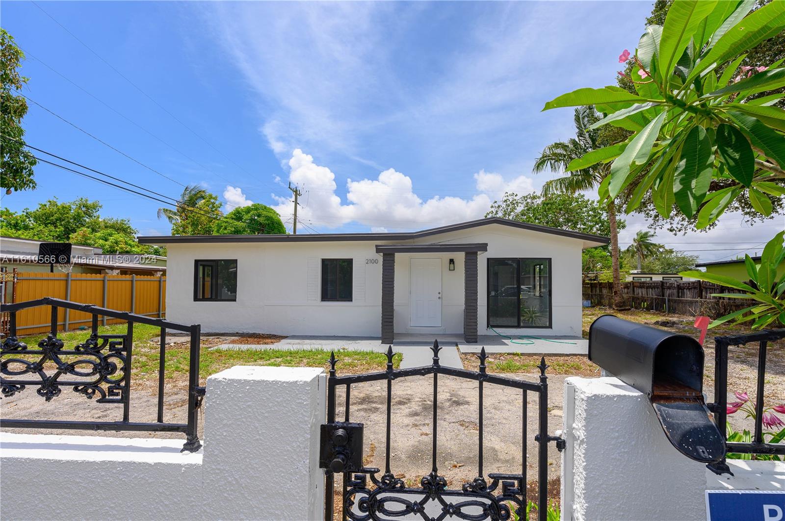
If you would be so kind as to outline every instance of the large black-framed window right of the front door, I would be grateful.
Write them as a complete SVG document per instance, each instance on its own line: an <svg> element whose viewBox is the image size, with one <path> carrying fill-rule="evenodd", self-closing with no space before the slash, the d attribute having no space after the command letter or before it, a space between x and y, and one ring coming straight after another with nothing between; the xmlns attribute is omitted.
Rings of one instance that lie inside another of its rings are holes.
<svg viewBox="0 0 785 521"><path fill-rule="evenodd" d="M550 258L487 260L491 327L552 327Z"/></svg>

